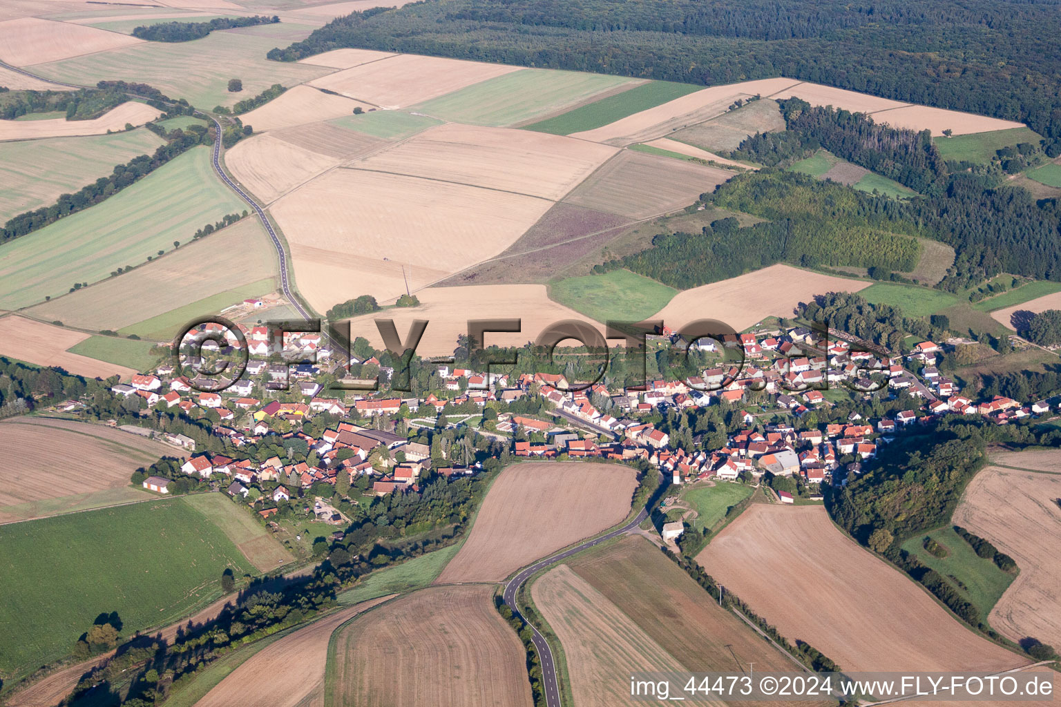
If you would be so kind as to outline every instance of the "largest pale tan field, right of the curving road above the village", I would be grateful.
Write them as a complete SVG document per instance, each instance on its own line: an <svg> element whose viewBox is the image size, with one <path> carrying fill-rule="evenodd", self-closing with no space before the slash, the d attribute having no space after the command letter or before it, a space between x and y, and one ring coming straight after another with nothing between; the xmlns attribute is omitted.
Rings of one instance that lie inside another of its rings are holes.
<svg viewBox="0 0 1061 707"><path fill-rule="evenodd" d="M295 278L325 311L370 294L396 298L504 250L547 199L404 175L333 170L272 207Z"/></svg>

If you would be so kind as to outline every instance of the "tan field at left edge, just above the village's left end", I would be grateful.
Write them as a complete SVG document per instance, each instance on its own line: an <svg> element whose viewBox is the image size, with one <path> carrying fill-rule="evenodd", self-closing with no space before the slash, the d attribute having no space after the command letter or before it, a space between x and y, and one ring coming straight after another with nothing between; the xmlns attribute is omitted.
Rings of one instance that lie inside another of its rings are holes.
<svg viewBox="0 0 1061 707"><path fill-rule="evenodd" d="M117 374L127 379L136 373L131 368L67 352L67 349L87 338L88 334L25 317L10 315L0 319L0 356L37 366L57 366L89 378L107 378Z"/></svg>

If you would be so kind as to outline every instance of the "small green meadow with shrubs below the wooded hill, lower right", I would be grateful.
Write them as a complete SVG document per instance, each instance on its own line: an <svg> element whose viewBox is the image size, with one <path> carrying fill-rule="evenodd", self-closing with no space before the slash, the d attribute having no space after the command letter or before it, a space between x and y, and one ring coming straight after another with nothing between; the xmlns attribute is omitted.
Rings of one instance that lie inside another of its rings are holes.
<svg viewBox="0 0 1061 707"><path fill-rule="evenodd" d="M937 558L925 550L922 542L926 534L944 546L950 553L945 558ZM977 555L969 543L951 527L919 533L903 543L902 547L951 582L964 599L980 609L980 616L985 620L1013 581L1013 577L998 569L994 562ZM959 586L954 578L964 587Z"/></svg>

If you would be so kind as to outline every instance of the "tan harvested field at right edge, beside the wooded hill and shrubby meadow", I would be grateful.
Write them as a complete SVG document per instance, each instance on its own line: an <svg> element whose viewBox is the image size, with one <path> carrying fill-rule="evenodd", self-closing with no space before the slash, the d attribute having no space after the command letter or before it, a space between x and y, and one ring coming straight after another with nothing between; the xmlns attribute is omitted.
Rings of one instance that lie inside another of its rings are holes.
<svg viewBox="0 0 1061 707"><path fill-rule="evenodd" d="M954 523L990 541L1016 560L1021 573L994 605L988 621L1007 638L1027 637L1061 644L1061 616L1048 607L1061 597L1061 474L1055 470L1061 453L1036 453L1046 463L1027 461L1020 454L998 454L992 461L1007 466L1031 466L1053 473L1021 472L988 466L969 483L954 513Z"/></svg>

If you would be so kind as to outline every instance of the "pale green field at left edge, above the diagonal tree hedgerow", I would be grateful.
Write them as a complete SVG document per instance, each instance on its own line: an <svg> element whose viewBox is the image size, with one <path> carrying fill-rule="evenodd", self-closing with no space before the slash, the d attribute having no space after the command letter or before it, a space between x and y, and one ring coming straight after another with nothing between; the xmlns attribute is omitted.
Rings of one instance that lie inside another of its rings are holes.
<svg viewBox="0 0 1061 707"><path fill-rule="evenodd" d="M60 194L108 176L115 164L150 155L160 144L162 140L145 129L5 144L0 149L0 181L4 184L0 189L0 222L51 206Z"/></svg>

